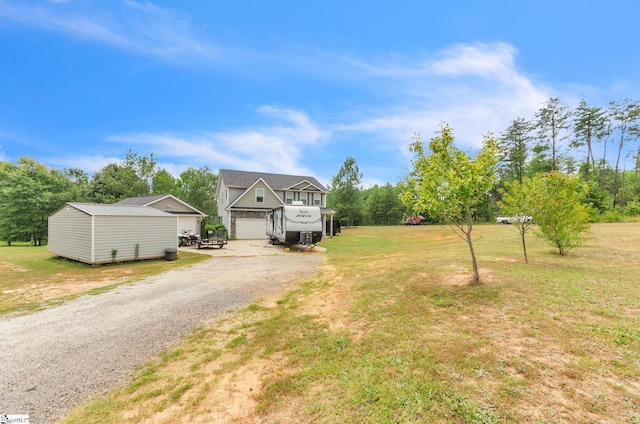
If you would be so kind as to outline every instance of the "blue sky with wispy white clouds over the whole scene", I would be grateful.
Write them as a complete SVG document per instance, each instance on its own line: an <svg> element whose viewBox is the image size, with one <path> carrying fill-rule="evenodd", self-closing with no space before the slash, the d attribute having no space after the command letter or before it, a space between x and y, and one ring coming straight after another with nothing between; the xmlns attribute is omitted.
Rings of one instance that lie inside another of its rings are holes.
<svg viewBox="0 0 640 424"><path fill-rule="evenodd" d="M0 160L127 149L395 184L414 131L472 151L550 97L640 98L640 2L0 0Z"/></svg>

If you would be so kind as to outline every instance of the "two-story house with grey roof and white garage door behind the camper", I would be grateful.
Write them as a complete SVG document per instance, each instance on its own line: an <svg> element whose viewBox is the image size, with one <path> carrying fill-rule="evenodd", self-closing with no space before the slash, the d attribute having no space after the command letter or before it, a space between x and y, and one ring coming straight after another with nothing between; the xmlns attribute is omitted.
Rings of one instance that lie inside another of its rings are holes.
<svg viewBox="0 0 640 424"><path fill-rule="evenodd" d="M300 201L319 206L323 226L334 213L327 209L327 189L314 177L221 169L216 188L218 215L229 236L266 238L266 212Z"/></svg>

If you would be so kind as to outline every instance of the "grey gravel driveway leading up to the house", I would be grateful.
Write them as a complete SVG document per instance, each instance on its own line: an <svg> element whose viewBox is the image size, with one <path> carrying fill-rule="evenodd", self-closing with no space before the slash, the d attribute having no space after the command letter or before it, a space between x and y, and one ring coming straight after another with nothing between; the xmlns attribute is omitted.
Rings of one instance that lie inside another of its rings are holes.
<svg viewBox="0 0 640 424"><path fill-rule="evenodd" d="M213 316L313 275L321 259L262 242L199 252L214 259L0 319L0 415L54 422Z"/></svg>

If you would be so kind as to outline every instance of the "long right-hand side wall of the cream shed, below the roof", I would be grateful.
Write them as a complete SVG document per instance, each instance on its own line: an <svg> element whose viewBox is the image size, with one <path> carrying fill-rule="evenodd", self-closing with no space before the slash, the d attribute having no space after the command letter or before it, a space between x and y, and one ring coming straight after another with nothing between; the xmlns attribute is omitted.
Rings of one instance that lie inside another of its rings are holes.
<svg viewBox="0 0 640 424"><path fill-rule="evenodd" d="M161 258L165 249L178 247L177 217L96 216L94 263Z"/></svg>

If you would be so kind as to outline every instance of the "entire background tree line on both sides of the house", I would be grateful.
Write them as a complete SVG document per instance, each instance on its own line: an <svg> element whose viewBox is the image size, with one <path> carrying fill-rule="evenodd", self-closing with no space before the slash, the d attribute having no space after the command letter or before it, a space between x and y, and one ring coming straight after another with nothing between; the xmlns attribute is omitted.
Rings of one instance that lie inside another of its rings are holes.
<svg viewBox="0 0 640 424"><path fill-rule="evenodd" d="M583 99L572 109L560 98L549 98L532 117L517 117L496 137L495 181L474 205L473 220L492 221L509 184L549 172L584 182L592 221L640 215L639 135L637 101L625 98L594 106ZM418 137L414 135L414 142ZM345 225L394 225L412 214L442 222L427 208L401 201L403 182L364 189L362 178L356 160L349 157L329 183L327 206ZM207 166L188 168L174 178L158 166L153 153L146 157L132 150L122 162L110 163L91 177L76 168L49 169L26 157L15 164L0 162L0 239L40 245L48 216L67 201L114 203L152 194L173 194L207 214L205 223L213 224L216 183L217 175Z"/></svg>

